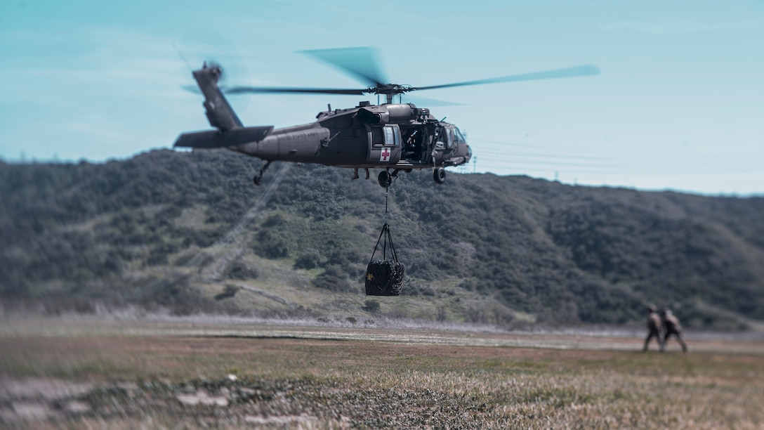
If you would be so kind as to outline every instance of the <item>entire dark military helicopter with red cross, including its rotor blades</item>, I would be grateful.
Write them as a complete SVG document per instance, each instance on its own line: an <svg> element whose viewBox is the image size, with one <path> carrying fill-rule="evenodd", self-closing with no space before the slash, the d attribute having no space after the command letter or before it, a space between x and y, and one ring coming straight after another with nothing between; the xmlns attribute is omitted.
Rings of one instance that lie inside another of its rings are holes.
<svg viewBox="0 0 764 430"><path fill-rule="evenodd" d="M434 90L453 86L480 85L520 80L578 77L599 73L588 65L548 70L484 80L446 83L433 86L410 86L386 83L368 47L308 50L368 84L361 89L289 88L260 86L218 86L222 69L205 63L193 71L193 77L204 95L204 107L210 125L216 130L189 132L178 136L175 146L186 148L227 148L261 158L265 164L254 176L260 184L264 171L273 161L313 163L342 168L381 168L377 181L389 187L400 171L432 168L435 182L445 181L445 168L464 165L472 151L456 125L435 119L427 108L413 103L393 103L393 97L414 90ZM316 121L274 129L273 125L244 127L223 93L371 93L385 96L386 103L372 105L363 101L350 109L319 112ZM444 118L445 119L445 118ZM356 170L358 174L358 170Z"/></svg>

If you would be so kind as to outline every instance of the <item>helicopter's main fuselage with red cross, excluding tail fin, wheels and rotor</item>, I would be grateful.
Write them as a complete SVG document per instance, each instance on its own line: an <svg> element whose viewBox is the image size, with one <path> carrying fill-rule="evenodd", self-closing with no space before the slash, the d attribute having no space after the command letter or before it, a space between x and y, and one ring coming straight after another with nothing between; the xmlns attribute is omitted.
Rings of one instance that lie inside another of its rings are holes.
<svg viewBox="0 0 764 430"><path fill-rule="evenodd" d="M413 104L320 112L316 122L274 129L259 142L230 147L266 161L399 170L457 166L471 150L458 128Z"/></svg>

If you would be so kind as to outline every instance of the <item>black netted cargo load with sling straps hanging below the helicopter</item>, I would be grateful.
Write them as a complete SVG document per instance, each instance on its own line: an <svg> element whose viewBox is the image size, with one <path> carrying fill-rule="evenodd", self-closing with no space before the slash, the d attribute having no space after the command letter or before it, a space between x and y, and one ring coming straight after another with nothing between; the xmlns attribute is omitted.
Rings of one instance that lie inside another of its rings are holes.
<svg viewBox="0 0 764 430"><path fill-rule="evenodd" d="M382 243L382 259L374 260L374 254L377 253L380 242ZM387 259L388 254L390 259ZM398 262L398 256L395 254L390 226L385 223L366 268L366 295L400 295L403 289L403 270L403 263Z"/></svg>

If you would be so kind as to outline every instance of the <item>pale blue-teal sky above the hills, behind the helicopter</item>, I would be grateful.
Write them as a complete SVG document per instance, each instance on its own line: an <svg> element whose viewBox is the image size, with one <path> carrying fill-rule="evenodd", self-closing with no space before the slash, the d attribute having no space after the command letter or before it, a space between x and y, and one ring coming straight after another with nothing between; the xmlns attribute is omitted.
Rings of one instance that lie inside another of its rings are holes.
<svg viewBox="0 0 764 430"><path fill-rule="evenodd" d="M363 88L301 50L375 47L430 86L594 64L601 74L427 90L462 172L764 195L764 2L0 0L0 158L101 162L208 129L189 67L226 83ZM245 125L376 96L231 96ZM406 96L403 96L406 102ZM253 165L257 165L254 161Z"/></svg>

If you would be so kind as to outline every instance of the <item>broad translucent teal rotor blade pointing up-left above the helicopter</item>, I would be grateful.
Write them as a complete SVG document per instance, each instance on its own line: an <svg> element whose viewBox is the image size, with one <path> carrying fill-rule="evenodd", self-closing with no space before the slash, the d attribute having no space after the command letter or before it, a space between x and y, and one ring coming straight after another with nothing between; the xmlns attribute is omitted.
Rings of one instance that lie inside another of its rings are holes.
<svg viewBox="0 0 764 430"><path fill-rule="evenodd" d="M367 85L380 86L387 83L377 63L377 51L372 47L344 47L337 49L301 50L350 73Z"/></svg>

